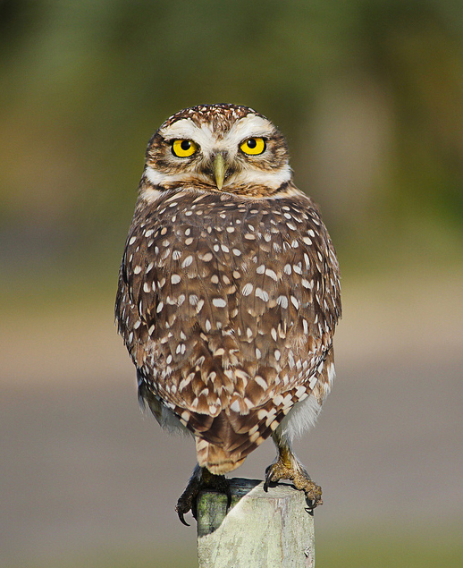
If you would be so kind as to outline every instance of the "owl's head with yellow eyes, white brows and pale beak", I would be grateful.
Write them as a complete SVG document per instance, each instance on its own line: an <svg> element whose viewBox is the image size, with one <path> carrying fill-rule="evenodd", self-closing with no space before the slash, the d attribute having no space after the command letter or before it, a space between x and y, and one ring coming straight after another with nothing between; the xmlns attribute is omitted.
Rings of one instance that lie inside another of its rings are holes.
<svg viewBox="0 0 463 568"><path fill-rule="evenodd" d="M149 187L271 195L290 181L288 148L248 106L201 105L173 114L147 147Z"/></svg>

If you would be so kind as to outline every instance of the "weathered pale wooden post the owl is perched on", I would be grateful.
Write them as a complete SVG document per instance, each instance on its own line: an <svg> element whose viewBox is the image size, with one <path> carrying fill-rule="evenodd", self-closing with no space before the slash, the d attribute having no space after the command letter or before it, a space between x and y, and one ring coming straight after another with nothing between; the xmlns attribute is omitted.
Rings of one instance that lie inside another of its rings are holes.
<svg viewBox="0 0 463 568"><path fill-rule="evenodd" d="M256 479L230 479L232 504L198 496L199 568L315 568L314 517L290 485L264 491Z"/></svg>

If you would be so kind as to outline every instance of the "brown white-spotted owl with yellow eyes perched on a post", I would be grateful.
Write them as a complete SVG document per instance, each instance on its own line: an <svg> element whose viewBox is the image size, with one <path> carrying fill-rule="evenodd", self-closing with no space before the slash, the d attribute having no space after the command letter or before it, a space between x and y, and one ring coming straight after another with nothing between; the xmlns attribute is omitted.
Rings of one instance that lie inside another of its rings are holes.
<svg viewBox="0 0 463 568"><path fill-rule="evenodd" d="M265 490L290 479L322 503L291 441L332 388L340 317L333 244L292 181L281 132L247 106L167 119L147 146L115 318L140 402L196 443L181 521L267 437L277 458Z"/></svg>

